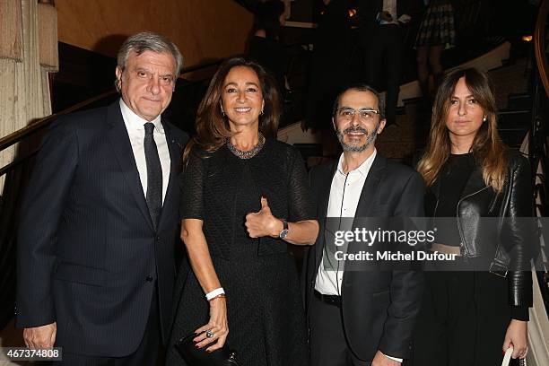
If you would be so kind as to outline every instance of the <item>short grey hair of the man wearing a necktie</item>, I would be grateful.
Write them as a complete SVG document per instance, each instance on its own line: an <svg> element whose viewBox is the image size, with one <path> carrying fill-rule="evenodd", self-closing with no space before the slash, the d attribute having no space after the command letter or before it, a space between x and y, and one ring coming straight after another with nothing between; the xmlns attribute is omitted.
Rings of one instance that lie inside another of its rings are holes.
<svg viewBox="0 0 549 366"><path fill-rule="evenodd" d="M179 48L170 39L153 33L152 31L143 31L128 37L122 47L118 50L117 64L122 71L126 69L127 58L132 52L141 55L144 51L153 51L157 53L168 53L175 59L176 68L173 71L174 78L178 78L183 66L183 56ZM115 83L119 92L118 83Z"/></svg>

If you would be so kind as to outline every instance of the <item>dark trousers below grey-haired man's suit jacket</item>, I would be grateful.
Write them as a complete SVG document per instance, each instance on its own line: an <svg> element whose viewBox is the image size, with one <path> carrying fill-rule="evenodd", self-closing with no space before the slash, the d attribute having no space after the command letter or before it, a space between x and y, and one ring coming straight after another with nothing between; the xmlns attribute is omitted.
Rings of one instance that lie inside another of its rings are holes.
<svg viewBox="0 0 549 366"><path fill-rule="evenodd" d="M155 366L158 362L160 332L160 313L157 294L154 293L143 339L134 353L125 357L96 357L85 354L63 353L63 361L54 362L53 366ZM120 336L124 335L121 334Z"/></svg>

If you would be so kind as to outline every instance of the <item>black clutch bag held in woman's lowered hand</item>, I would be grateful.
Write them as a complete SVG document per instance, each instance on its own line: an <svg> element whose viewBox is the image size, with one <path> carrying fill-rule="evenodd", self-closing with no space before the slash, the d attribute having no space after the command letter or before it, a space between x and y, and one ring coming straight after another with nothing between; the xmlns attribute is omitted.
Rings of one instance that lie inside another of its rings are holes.
<svg viewBox="0 0 549 366"><path fill-rule="evenodd" d="M205 348L196 348L195 339L196 334L187 335L178 342L175 346L183 360L189 364L189 366L239 366L236 361L236 353L229 351L227 348L222 347L219 350L215 350L212 353L205 351Z"/></svg>

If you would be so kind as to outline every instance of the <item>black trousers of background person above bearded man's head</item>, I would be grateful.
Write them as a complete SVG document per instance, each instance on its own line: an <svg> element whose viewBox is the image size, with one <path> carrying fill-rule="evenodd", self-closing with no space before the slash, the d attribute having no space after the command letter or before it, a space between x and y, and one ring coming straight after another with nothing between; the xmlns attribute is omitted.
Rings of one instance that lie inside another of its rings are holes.
<svg viewBox="0 0 549 366"><path fill-rule="evenodd" d="M372 33L366 44L362 45L366 83L378 91L382 85L386 86L385 114L388 123L394 123L404 57L402 34L396 24L376 26Z"/></svg>

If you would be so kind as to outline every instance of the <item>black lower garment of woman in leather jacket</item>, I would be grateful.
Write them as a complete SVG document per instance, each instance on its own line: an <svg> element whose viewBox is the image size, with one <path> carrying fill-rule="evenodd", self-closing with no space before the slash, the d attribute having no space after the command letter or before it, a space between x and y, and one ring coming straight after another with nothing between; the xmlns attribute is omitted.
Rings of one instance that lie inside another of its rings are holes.
<svg viewBox="0 0 549 366"><path fill-rule="evenodd" d="M510 323L507 278L488 272L426 272L414 335L414 366L501 365Z"/></svg>

